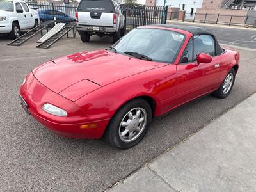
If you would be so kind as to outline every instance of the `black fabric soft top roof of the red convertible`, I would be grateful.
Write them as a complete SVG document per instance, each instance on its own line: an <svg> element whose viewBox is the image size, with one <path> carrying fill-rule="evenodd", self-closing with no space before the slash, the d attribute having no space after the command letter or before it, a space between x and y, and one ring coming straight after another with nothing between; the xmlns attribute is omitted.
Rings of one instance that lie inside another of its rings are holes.
<svg viewBox="0 0 256 192"><path fill-rule="evenodd" d="M211 35L215 39L215 52L216 55L221 54L224 52L224 50L220 47L220 44L218 43L218 40L216 36L212 33L210 29L207 28L201 28L201 27L195 27L195 26L178 26L178 25L168 25L168 24L159 24L159 25L152 25L152 26L158 26L163 28L171 28L171 29L180 29L183 31L188 31L192 33L193 35Z"/></svg>

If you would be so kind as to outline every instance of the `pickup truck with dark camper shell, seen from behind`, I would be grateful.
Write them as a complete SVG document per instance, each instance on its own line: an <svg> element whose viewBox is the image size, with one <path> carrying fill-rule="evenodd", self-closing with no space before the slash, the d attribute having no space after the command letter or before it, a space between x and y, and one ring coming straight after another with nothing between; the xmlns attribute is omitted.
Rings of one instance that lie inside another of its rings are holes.
<svg viewBox="0 0 256 192"><path fill-rule="evenodd" d="M110 35L114 42L124 36L124 15L113 0L81 0L76 22L83 42L89 42L92 35Z"/></svg>

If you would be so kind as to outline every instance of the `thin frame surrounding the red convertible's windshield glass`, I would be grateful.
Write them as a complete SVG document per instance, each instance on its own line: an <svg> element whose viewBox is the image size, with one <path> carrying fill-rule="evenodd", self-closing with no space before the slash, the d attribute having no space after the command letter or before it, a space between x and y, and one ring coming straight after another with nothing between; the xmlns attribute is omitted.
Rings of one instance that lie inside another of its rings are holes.
<svg viewBox="0 0 256 192"><path fill-rule="evenodd" d="M173 65L174 65L175 61L177 60L177 56L179 56L179 53L180 53L180 51L181 51L181 49L182 49L182 46L184 45L184 42L185 42L186 39L187 39L187 35L186 35L185 33L181 33L181 32L179 32L179 31L172 30L172 29L150 28L150 26L143 26L143 27L134 28L134 29L132 29L131 31L140 30L140 29L152 29L152 30L172 31L172 32L174 32L174 33L178 33L179 35L184 36L182 42L180 42L180 46L179 46L179 48L177 49L177 52L176 52L175 56L173 57L173 60L172 60L172 61L159 61L159 60L154 60L154 62L156 62L156 63L165 63L165 64L173 64ZM129 31L129 33L130 33L131 31ZM128 33L127 33L127 34L128 34ZM124 36L123 36L122 38L124 38ZM114 48L115 48L115 46L122 40L122 38L120 38L120 40L118 40L117 42L115 42L115 44L113 44L111 47L114 47ZM109 50L109 51L113 51L113 50L111 50L111 49L108 49L108 50ZM113 52L115 52L115 51L113 51ZM117 53L117 54L122 54L122 55L125 55L125 56L129 56L129 55L125 54L124 52L119 52L118 50L117 50L115 53ZM139 53L140 53L140 52L139 52ZM134 58L135 58L135 57L134 57Z"/></svg>

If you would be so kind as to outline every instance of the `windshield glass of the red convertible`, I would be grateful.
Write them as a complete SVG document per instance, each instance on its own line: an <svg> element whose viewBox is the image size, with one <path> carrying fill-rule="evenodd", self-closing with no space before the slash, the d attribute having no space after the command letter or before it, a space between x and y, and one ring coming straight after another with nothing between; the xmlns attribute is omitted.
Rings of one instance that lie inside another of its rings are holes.
<svg viewBox="0 0 256 192"><path fill-rule="evenodd" d="M153 61L173 63L184 41L184 35L165 29L133 29L113 47L118 53L136 53Z"/></svg>

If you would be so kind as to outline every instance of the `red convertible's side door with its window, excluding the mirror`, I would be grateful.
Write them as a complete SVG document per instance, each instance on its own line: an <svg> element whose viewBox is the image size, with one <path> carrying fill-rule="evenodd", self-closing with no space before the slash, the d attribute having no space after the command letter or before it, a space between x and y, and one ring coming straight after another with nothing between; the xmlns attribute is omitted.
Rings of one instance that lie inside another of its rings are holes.
<svg viewBox="0 0 256 192"><path fill-rule="evenodd" d="M196 56L204 52L212 56L211 63L197 63ZM211 35L196 35L189 40L177 65L177 100L184 103L216 90L220 85L220 56L215 56L215 39Z"/></svg>

